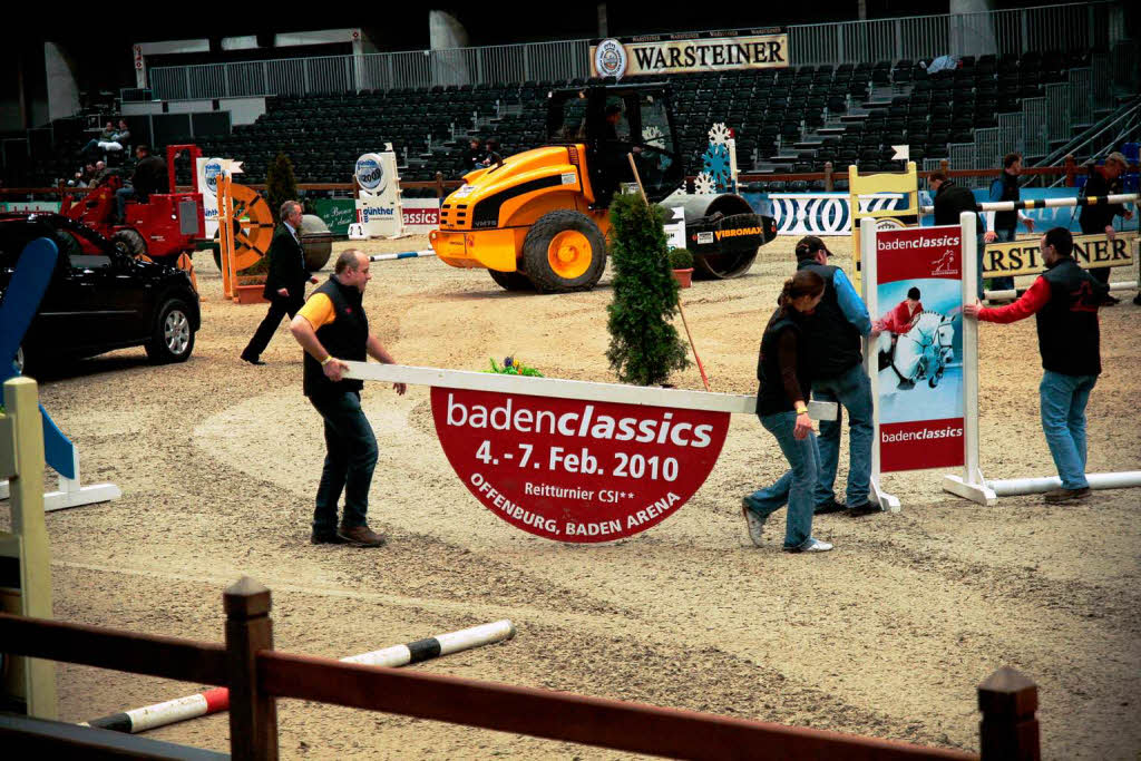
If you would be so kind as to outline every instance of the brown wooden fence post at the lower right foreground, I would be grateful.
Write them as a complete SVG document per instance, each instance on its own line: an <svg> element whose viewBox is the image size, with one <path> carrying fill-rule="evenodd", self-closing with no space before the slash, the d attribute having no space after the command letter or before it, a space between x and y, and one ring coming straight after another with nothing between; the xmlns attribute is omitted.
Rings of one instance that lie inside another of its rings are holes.
<svg viewBox="0 0 1141 761"><path fill-rule="evenodd" d="M979 685L979 751L982 761L1039 761L1038 687L1003 666Z"/></svg>

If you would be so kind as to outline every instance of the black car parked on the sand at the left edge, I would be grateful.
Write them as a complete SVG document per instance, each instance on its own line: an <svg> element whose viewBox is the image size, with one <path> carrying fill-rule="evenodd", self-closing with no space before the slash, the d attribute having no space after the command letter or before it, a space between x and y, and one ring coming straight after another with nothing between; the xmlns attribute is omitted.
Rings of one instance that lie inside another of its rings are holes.
<svg viewBox="0 0 1141 761"><path fill-rule="evenodd" d="M32 363L146 347L155 364L185 362L201 315L189 276L140 261L95 230L52 213L0 213L0 299L39 237L59 248L51 283L22 345Z"/></svg>

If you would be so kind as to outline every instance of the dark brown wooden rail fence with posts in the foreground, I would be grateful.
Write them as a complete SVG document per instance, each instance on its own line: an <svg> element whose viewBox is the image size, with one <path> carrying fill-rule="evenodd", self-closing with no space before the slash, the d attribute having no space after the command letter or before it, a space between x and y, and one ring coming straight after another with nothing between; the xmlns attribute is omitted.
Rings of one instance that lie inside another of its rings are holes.
<svg viewBox="0 0 1141 761"><path fill-rule="evenodd" d="M980 755L835 731L475 679L358 665L273 649L269 590L243 577L222 594L226 643L0 614L5 650L229 688L233 758L276 759L280 697L381 711L531 737L671 758L860 760L1041 758L1037 687L1011 669L978 686ZM74 730L74 728L72 728ZM10 735L11 732L9 732ZM102 732L95 730L91 743ZM21 738L17 738L19 742ZM75 735L68 738L73 752ZM22 747L57 747L42 734ZM752 751L750 750L752 748ZM124 754L126 755L126 754Z"/></svg>

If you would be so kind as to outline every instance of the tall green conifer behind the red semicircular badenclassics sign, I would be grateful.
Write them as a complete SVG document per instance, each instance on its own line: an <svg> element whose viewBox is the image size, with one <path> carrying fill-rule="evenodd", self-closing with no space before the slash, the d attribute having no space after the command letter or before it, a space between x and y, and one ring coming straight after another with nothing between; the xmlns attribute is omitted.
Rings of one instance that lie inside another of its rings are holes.
<svg viewBox="0 0 1141 761"><path fill-rule="evenodd" d="M686 345L670 319L678 284L666 256L662 212L636 195L610 203L614 299L607 307L606 358L623 383L656 386L689 366Z"/></svg>

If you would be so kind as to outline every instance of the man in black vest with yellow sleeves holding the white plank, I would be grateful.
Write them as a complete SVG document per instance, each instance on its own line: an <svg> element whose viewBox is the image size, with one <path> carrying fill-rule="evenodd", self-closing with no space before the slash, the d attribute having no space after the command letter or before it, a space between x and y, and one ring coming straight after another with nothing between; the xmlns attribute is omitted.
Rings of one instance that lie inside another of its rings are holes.
<svg viewBox="0 0 1141 761"><path fill-rule="evenodd" d="M313 292L293 317L290 331L305 349L305 395L325 422L325 465L313 511L314 544L380 547L385 537L369 528L369 487L377 467L377 437L361 408L364 381L343 378L342 359L394 364L396 359L369 332L362 303L372 278L369 257L355 249L337 258L333 276ZM404 394L404 383L394 386ZM337 502L345 492L345 515Z"/></svg>

